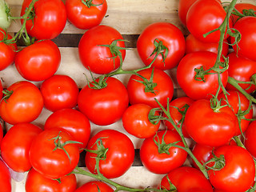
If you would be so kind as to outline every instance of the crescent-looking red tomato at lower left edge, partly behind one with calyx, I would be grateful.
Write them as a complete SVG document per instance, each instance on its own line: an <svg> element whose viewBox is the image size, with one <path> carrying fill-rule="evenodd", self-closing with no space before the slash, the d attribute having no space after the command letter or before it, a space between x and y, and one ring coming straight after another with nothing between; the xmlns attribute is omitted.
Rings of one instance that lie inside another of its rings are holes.
<svg viewBox="0 0 256 192"><path fill-rule="evenodd" d="M7 131L2 139L1 154L2 159L12 170L16 172L30 170L30 146L41 132L42 129L28 122L18 123Z"/></svg>

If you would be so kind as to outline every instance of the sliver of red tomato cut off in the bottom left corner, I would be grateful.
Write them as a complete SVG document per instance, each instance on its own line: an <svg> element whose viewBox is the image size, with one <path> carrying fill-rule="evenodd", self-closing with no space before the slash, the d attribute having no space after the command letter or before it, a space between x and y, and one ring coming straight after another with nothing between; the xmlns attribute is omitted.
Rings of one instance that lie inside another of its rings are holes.
<svg viewBox="0 0 256 192"><path fill-rule="evenodd" d="M10 170L2 160L0 160L0 186L2 192L12 191Z"/></svg>

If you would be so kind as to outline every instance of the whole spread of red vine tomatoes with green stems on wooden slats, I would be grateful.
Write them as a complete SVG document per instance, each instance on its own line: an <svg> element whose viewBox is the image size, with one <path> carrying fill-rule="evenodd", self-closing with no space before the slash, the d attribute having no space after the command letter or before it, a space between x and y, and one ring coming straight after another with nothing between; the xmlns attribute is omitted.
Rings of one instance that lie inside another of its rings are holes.
<svg viewBox="0 0 256 192"><path fill-rule="evenodd" d="M7 34L8 15L0 33L0 69L14 63L26 79L6 89L1 84L0 116L11 125L5 135L0 129L2 191L11 191L7 166L28 171L26 191L114 191L106 183L135 191L110 180L134 162L128 134L143 139L143 166L166 174L158 189L145 191L255 191L256 17L246 15L255 15L256 6L234 2L225 9L219 0L180 0L178 16L190 34L185 38L168 22L152 23L137 42L145 67L123 70L126 40L100 25L105 0L24 0L15 39ZM226 17L230 10L242 18ZM55 74L61 53L52 39L66 20L86 30L79 58L98 74L81 90L69 76ZM21 37L27 46L18 50L15 40ZM166 72L175 67L186 97L173 98L173 79ZM116 74L130 74L127 86ZM38 88L32 82L42 83ZM43 107L52 114L42 129L31 122ZM109 126L121 120L127 134L106 128L91 135L90 122ZM82 150L88 171L78 167ZM188 158L191 166L184 166ZM98 181L77 189L76 174Z"/></svg>

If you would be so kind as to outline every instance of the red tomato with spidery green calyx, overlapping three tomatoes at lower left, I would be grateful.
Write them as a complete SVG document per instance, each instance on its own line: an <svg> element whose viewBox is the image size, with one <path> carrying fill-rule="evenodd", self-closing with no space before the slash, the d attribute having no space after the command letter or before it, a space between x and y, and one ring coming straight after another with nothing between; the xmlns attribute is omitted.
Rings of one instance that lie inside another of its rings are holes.
<svg viewBox="0 0 256 192"><path fill-rule="evenodd" d="M70 174L78 165L79 149L76 143L65 143L69 141L74 138L64 130L42 131L30 147L33 168L46 178L62 178Z"/></svg>

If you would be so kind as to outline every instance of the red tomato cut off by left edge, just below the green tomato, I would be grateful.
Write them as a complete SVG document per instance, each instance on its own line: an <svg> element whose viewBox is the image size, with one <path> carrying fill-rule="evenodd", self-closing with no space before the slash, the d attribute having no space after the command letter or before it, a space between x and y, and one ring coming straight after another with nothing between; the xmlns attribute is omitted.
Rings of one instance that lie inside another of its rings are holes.
<svg viewBox="0 0 256 192"><path fill-rule="evenodd" d="M1 2L0 2L1 6ZM10 66L14 63L14 58L16 55L17 45L16 43L6 44L5 39L13 38L10 34L6 34L5 30L0 28L0 70L6 69L7 66Z"/></svg>

